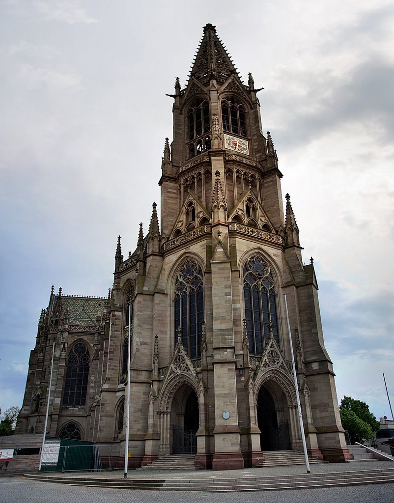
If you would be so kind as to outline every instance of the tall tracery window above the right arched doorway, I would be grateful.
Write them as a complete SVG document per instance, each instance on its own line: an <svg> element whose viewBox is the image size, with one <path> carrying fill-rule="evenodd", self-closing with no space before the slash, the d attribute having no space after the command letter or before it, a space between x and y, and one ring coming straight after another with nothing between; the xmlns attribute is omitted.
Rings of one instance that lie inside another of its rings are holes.
<svg viewBox="0 0 394 503"><path fill-rule="evenodd" d="M247 261L243 275L249 351L261 355L270 330L279 344L275 283L268 264L259 255Z"/></svg>

